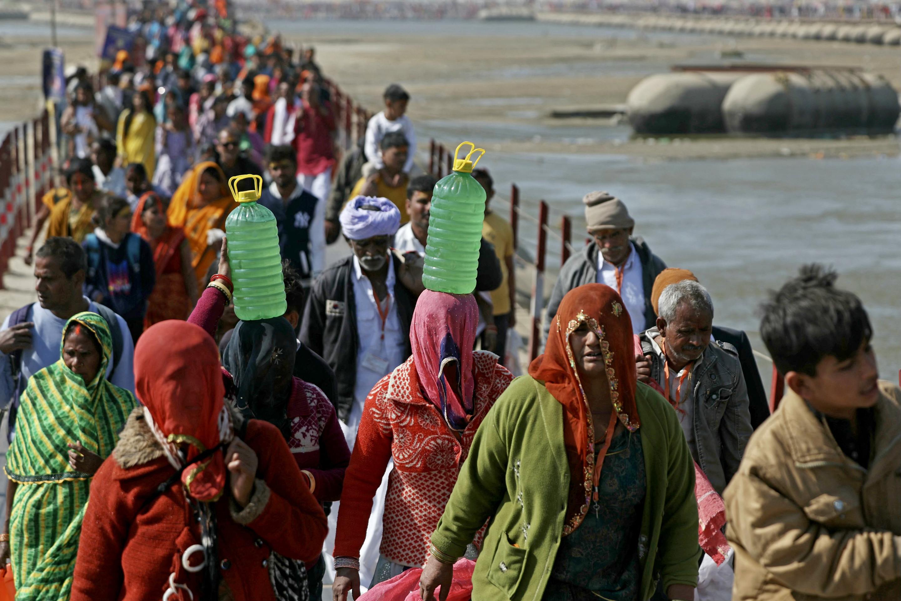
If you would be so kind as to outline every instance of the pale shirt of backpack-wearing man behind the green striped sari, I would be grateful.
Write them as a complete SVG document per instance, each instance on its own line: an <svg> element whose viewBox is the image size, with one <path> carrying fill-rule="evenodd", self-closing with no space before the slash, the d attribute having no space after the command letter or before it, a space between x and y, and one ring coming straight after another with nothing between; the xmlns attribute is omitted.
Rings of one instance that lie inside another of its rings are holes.
<svg viewBox="0 0 901 601"><path fill-rule="evenodd" d="M94 301L87 301L87 310L97 313L97 305ZM110 357L106 366L106 378L117 387L134 392L134 343L128 324L122 317L116 316L119 322L119 330L122 332L122 359L113 372L114 360ZM26 379L41 369L53 365L59 360L59 347L62 343L62 329L68 320L59 319L40 303L34 303L29 315L29 321L34 323L32 328L32 348L22 351L22 375ZM4 320L0 330L9 328L9 317ZM9 362L9 355L0 353L0 406L6 406L13 399L15 382Z"/></svg>

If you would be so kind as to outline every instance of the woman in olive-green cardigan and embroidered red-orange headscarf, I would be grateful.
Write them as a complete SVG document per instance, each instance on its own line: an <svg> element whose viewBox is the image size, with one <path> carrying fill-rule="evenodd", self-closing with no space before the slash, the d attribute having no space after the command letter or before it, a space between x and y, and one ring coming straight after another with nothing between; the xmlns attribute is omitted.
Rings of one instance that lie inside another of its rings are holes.
<svg viewBox="0 0 901 601"><path fill-rule="evenodd" d="M672 407L636 381L632 321L614 289L563 297L545 353L469 453L432 534L425 601L439 585L447 596L453 562L487 520L479 601L645 601L658 574L667 598L694 598L695 469Z"/></svg>

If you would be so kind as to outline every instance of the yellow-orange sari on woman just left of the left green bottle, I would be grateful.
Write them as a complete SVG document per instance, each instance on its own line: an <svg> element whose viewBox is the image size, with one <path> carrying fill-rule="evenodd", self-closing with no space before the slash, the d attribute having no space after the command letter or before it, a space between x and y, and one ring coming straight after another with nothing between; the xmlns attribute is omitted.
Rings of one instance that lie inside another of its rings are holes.
<svg viewBox="0 0 901 601"><path fill-rule="evenodd" d="M222 182L222 190L217 200L209 205L199 206L201 202L198 189L200 176L206 169L216 171ZM187 243L194 255L191 265L194 267L197 284L201 290L205 286L206 270L213 263L217 250L206 243L206 232L214 228L224 231L225 218L232 213L232 209L236 206L238 203L234 202L232 193L228 191L222 168L213 161L199 163L191 169L172 196L172 202L169 203L167 211L169 224L185 230Z"/></svg>

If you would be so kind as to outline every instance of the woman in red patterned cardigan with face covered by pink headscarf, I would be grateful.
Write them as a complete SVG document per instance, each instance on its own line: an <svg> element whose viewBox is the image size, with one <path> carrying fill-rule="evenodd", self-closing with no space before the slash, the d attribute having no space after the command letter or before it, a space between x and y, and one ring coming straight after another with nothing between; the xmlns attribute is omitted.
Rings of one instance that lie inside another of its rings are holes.
<svg viewBox="0 0 901 601"><path fill-rule="evenodd" d="M472 295L426 290L416 302L410 326L413 355L369 393L341 493L335 601L344 601L350 591L355 599L359 596L365 516L389 460L394 460L394 469L382 517L381 555L369 586L418 568L428 557L429 536L469 445L513 379L496 355L472 351L477 323ZM476 531L469 533L464 549Z"/></svg>

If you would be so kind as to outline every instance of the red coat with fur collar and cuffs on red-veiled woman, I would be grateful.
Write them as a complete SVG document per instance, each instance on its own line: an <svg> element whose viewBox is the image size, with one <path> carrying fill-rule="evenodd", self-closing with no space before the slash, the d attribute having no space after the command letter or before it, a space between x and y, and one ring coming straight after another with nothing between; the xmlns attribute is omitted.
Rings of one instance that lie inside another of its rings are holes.
<svg viewBox="0 0 901 601"><path fill-rule="evenodd" d="M315 560L328 526L278 428L250 420L244 442L257 453L257 484L240 513L227 490L214 503L218 561L223 586L235 601L275 601L270 553ZM113 455L91 483L72 601L160 598L173 569L175 581L197 596L200 577L181 567L181 556L200 542L200 528L181 482L146 503L173 472L141 412L132 413ZM197 561L195 554L192 563Z"/></svg>

